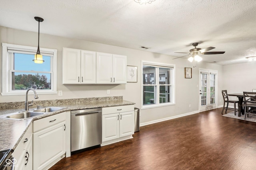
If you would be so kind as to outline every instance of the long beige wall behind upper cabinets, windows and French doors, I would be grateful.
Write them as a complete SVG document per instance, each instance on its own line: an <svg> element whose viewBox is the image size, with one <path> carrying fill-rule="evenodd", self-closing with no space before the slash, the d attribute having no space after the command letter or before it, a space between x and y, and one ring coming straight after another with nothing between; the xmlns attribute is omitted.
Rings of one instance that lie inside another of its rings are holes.
<svg viewBox="0 0 256 170"><path fill-rule="evenodd" d="M17 45L37 46L38 33L28 32L6 27L0 27L0 42L11 43ZM132 40L131 40L132 41ZM222 90L222 66L217 64L209 64L201 62L196 68L187 59L175 59L168 55L160 55L156 53L128 49L112 45L93 43L78 39L70 39L53 35L40 34L40 47L58 49L58 82L57 90L63 91L63 96L57 94L39 95L38 100L54 100L68 98L89 98L104 96L123 96L124 100L135 102L135 107L141 108L141 61L154 61L158 63L176 64L176 105L157 107L153 109L143 109L140 111L140 123L156 121L168 117L181 115L185 113L198 111L199 100L199 68L218 70L218 96L221 97ZM127 65L138 66L138 82L120 85L69 85L62 84L62 48L75 48L89 51L98 51L104 53L113 53L127 56ZM0 49L2 54L2 48ZM2 55L1 55L2 61ZM0 71L2 64L0 64ZM184 67L192 67L192 78L184 78ZM2 71L0 72L2 75ZM2 88L2 80L0 80ZM110 89L110 94L106 94L106 90ZM0 102L21 102L25 100L25 96L0 96ZM29 96L32 100L32 96ZM189 108L189 104L191 107ZM218 106L222 102L218 100Z"/></svg>

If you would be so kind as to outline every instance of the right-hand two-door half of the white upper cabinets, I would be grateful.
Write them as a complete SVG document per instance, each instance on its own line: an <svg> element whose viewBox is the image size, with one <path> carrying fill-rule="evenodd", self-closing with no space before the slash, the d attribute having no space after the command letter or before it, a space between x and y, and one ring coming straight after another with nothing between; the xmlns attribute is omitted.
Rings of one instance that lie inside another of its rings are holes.
<svg viewBox="0 0 256 170"><path fill-rule="evenodd" d="M97 53L96 58L97 84L126 84L126 56Z"/></svg>

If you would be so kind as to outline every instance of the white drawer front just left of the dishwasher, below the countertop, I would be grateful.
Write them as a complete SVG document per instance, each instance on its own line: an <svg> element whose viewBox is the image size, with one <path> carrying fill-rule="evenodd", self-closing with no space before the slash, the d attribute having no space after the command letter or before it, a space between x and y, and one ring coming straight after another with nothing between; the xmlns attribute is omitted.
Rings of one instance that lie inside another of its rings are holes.
<svg viewBox="0 0 256 170"><path fill-rule="evenodd" d="M66 120L66 112L62 112L56 115L45 117L33 122L33 132L40 131L49 126L55 125Z"/></svg>

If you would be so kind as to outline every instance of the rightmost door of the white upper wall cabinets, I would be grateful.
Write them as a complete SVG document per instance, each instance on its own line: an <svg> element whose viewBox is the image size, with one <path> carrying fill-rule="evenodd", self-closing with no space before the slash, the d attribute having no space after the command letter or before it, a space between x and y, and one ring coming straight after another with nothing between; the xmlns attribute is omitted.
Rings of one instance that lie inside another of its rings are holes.
<svg viewBox="0 0 256 170"><path fill-rule="evenodd" d="M126 72L126 56L113 54L113 84L126 84Z"/></svg>

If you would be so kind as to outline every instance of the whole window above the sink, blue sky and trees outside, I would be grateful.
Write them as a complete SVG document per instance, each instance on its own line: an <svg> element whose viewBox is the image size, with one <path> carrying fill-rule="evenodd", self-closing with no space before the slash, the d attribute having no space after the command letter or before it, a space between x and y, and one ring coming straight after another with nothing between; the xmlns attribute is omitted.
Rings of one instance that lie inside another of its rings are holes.
<svg viewBox="0 0 256 170"><path fill-rule="evenodd" d="M2 43L2 95L55 94L57 50L40 48L44 63L34 63L36 47Z"/></svg>

